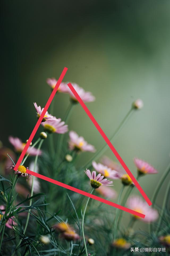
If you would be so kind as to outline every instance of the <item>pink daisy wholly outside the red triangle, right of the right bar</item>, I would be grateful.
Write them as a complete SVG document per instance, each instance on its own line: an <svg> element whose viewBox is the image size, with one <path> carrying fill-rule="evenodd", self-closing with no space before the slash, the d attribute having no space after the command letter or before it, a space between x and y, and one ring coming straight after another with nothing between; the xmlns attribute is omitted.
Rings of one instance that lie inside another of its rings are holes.
<svg viewBox="0 0 170 256"><path fill-rule="evenodd" d="M151 166L149 163L139 159L139 158L134 158L134 163L135 166L138 169L138 172L141 174L155 174L158 173L158 171Z"/></svg>

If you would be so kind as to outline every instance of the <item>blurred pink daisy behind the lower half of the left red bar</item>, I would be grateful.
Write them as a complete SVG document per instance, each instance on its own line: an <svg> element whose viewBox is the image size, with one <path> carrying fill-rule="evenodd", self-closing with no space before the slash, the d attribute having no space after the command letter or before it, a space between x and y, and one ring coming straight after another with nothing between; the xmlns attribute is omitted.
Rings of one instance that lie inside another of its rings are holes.
<svg viewBox="0 0 170 256"><path fill-rule="evenodd" d="M22 152L26 144L26 143L23 143L19 138L17 137L14 138L12 136L9 137L9 141L14 146L17 152ZM42 151L41 150L39 151L37 148L31 147L31 146L28 147L26 152L26 154L29 154L30 156L36 156L37 153L41 155Z"/></svg>

